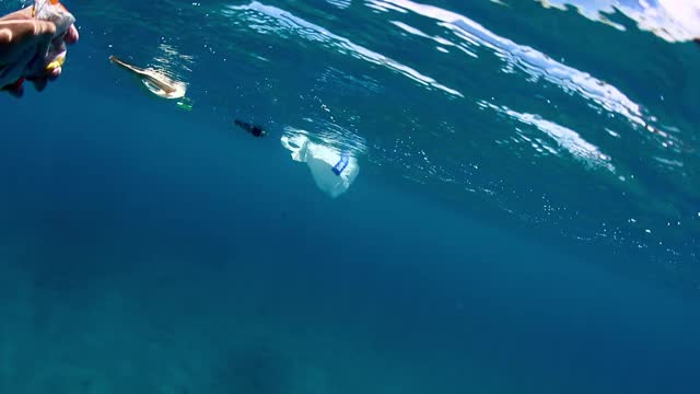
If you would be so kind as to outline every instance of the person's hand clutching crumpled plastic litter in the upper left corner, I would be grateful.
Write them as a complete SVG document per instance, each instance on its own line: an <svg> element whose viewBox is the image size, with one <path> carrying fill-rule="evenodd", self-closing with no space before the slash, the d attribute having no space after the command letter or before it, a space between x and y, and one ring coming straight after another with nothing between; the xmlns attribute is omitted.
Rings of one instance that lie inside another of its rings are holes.
<svg viewBox="0 0 700 394"><path fill-rule="evenodd" d="M49 46L65 47L79 38L78 30L71 25L65 35L56 36L56 25L32 16L32 8L13 12L0 18L0 89L15 96L23 93L22 81L27 79L37 91L46 88L48 80L55 80L61 73L57 67L39 74L32 69L44 70L44 66L54 61L46 58ZM4 88L2 88L4 86Z"/></svg>

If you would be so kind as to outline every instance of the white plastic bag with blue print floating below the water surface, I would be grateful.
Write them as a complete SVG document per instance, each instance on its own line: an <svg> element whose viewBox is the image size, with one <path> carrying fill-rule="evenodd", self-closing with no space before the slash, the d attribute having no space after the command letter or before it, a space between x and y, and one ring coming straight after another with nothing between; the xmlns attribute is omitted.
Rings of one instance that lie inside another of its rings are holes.
<svg viewBox="0 0 700 394"><path fill-rule="evenodd" d="M284 135L281 142L294 161L308 165L316 186L330 198L346 193L360 173L358 160L350 152L312 142L303 135Z"/></svg>

